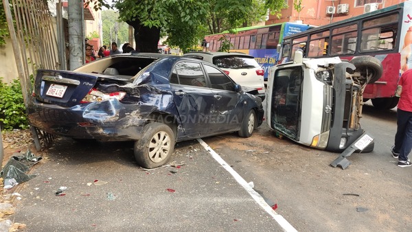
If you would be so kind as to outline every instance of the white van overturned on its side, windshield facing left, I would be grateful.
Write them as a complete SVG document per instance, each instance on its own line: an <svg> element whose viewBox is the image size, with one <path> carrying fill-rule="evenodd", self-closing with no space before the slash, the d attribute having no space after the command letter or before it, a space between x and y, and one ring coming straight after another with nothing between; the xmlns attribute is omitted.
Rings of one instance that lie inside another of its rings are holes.
<svg viewBox="0 0 412 232"><path fill-rule="evenodd" d="M342 152L357 139L363 139L363 90L381 74L380 61L371 56L347 62L337 57L305 59L297 51L294 62L270 69L267 124L277 136ZM363 152L374 150L373 141L368 144L365 140L364 144Z"/></svg>

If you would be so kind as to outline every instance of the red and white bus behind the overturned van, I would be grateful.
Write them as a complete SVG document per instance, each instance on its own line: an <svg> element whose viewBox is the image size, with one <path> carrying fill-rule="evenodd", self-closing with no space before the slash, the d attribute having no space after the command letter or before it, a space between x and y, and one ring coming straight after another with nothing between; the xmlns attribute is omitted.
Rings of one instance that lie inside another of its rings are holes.
<svg viewBox="0 0 412 232"><path fill-rule="evenodd" d="M297 49L304 49L307 58L378 58L383 66L382 76L366 86L363 100L371 99L376 108L394 108L399 100L395 91L400 75L412 68L412 2L287 36L282 43L281 60L293 60Z"/></svg>

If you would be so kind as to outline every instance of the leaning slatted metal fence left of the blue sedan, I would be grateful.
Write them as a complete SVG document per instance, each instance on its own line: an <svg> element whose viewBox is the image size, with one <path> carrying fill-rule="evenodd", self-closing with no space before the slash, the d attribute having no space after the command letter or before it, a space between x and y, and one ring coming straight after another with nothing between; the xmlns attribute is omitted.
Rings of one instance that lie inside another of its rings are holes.
<svg viewBox="0 0 412 232"><path fill-rule="evenodd" d="M26 108L33 89L31 76L36 76L36 70L62 69L57 33L46 3L40 0L3 0ZM49 146L54 139L54 136L32 126L31 130L36 150Z"/></svg>

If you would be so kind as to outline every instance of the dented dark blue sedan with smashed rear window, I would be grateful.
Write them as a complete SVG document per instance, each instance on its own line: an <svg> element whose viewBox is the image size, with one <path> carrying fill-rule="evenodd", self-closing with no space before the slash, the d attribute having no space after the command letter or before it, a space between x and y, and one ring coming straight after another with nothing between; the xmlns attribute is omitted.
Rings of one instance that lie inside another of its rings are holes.
<svg viewBox="0 0 412 232"><path fill-rule="evenodd" d="M135 141L141 167L168 162L177 141L227 132L250 137L262 100L201 60L120 54L74 71L39 69L30 124L73 139Z"/></svg>

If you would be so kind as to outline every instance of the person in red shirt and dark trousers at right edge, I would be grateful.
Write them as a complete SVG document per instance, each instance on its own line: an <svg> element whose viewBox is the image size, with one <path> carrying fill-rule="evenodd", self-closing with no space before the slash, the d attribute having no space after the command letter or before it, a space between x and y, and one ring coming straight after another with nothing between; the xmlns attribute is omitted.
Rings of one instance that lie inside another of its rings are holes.
<svg viewBox="0 0 412 232"><path fill-rule="evenodd" d="M391 152L393 158L398 158L399 167L409 167L412 165L408 159L412 150L412 69L400 76L396 96L400 97L396 112L398 127Z"/></svg>

